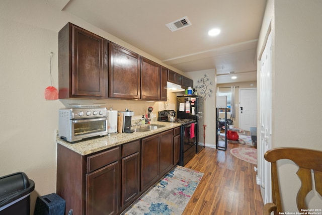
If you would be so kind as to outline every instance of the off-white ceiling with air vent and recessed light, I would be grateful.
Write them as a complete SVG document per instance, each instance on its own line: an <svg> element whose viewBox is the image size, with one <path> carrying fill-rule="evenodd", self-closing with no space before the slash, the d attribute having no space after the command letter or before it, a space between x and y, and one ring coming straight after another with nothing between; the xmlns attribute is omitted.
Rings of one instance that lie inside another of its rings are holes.
<svg viewBox="0 0 322 215"><path fill-rule="evenodd" d="M184 73L216 68L217 84L256 80L267 0L47 1ZM166 26L184 17L191 26L174 32ZM208 36L212 28L221 33Z"/></svg>

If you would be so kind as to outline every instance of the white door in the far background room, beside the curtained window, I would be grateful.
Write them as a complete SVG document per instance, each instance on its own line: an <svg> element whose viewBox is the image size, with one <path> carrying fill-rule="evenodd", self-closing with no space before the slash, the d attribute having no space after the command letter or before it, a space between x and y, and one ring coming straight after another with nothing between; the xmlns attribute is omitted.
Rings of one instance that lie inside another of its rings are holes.
<svg viewBox="0 0 322 215"><path fill-rule="evenodd" d="M257 89L239 89L239 128L257 127Z"/></svg>

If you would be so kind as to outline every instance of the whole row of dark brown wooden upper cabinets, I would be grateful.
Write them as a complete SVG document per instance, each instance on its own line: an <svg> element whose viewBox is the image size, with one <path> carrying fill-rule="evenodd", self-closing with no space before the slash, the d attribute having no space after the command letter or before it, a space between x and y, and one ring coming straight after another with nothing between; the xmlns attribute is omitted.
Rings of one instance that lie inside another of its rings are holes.
<svg viewBox="0 0 322 215"><path fill-rule="evenodd" d="M193 87L191 79L71 23L58 40L59 99L167 101L167 81Z"/></svg>

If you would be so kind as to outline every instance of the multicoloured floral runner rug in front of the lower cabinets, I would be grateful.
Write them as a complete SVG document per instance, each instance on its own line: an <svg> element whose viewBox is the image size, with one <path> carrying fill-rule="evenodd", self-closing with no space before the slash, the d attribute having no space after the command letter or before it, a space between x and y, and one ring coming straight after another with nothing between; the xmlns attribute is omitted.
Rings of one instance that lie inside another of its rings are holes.
<svg viewBox="0 0 322 215"><path fill-rule="evenodd" d="M122 214L182 214L202 176L177 166Z"/></svg>

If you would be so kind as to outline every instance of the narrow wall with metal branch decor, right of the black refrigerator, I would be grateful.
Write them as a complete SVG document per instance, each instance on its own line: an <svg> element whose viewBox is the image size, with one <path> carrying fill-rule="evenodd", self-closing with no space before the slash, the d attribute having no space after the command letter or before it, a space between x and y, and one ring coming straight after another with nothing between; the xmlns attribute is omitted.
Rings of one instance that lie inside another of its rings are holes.
<svg viewBox="0 0 322 215"><path fill-rule="evenodd" d="M207 69L202 71L193 71L190 73L186 73L186 76L193 80L195 87L198 83L197 81L204 77L207 74L209 80L213 82L213 85L210 85L210 88L213 90L211 97L206 98L204 103L204 124L206 126L206 138L205 144L207 147L215 147L216 146L216 70L215 69ZM208 92L208 91L207 91ZM199 142L204 142L203 133L200 134Z"/></svg>

